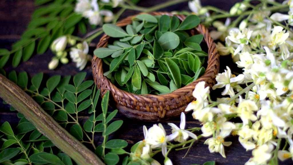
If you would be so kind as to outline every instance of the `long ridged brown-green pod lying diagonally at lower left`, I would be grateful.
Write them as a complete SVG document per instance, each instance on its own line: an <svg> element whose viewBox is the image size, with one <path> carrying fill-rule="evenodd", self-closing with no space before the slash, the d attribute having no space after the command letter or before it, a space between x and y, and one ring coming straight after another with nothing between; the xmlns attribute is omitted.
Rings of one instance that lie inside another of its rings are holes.
<svg viewBox="0 0 293 165"><path fill-rule="evenodd" d="M38 131L48 137L56 147L70 156L77 164L104 165L96 154L62 128L20 87L1 74L0 89L0 97L3 100L21 112Z"/></svg>

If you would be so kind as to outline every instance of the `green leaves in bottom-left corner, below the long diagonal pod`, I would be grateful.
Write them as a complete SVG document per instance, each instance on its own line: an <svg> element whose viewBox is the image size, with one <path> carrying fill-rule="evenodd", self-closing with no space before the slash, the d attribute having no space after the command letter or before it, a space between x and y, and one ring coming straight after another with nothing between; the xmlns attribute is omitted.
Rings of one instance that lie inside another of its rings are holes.
<svg viewBox="0 0 293 165"><path fill-rule="evenodd" d="M8 122L0 126L0 164L54 164L72 165L69 156L62 153L21 114L16 128Z"/></svg>

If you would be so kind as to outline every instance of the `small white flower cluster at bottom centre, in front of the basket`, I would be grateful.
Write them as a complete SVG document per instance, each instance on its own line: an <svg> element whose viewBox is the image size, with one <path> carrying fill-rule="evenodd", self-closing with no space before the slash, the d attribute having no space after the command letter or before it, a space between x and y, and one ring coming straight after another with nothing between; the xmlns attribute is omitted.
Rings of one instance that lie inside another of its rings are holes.
<svg viewBox="0 0 293 165"><path fill-rule="evenodd" d="M144 126L144 140L136 144L134 152L130 154L131 160L141 164L160 165L158 161L152 159L151 157L158 153L158 151L161 151L165 157L164 164L172 165L172 161L167 156L168 151L175 146L170 145L170 142L174 140L179 142L181 145L185 145L189 137L194 140L197 139L197 136L194 133L185 130L185 114L183 112L181 113L181 122L179 127L173 123L168 123L168 125L170 125L172 129L172 134L170 135L166 134L162 124L154 124L149 129Z"/></svg>

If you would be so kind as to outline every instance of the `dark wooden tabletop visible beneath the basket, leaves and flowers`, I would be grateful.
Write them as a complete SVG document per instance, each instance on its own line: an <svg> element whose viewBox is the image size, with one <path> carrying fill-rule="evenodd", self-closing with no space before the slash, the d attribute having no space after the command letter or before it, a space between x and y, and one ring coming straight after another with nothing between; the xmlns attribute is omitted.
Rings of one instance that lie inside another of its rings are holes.
<svg viewBox="0 0 293 165"><path fill-rule="evenodd" d="M233 4L239 0L202 0L202 5L213 5L220 7L224 10L229 10ZM139 2L140 6L154 6L158 3L164 2L163 0L141 0ZM16 42L23 31L26 29L28 22L30 21L30 16L34 11L35 6L33 0L1 0L0 1L0 48L8 48L12 43ZM161 11L173 11L173 10L188 10L187 2L181 3L175 6L162 9ZM126 11L123 14L123 17L136 14L136 11ZM98 39L95 40L97 42ZM93 54L93 48L90 51ZM33 57L25 63L21 63L17 68L12 68L7 65L5 67L6 72L11 70L26 71L30 76L35 73L43 72L47 75L74 75L78 73L78 69L75 68L74 63L69 63L68 65L59 66L56 70L48 70L47 64L52 58L53 54L48 50L45 54L42 55L33 55ZM9 62L8 62L9 63ZM230 57L221 57L220 58L220 72L222 72L226 65L232 66L232 60ZM88 63L85 71L88 73L88 79L91 79L92 71L91 64ZM0 89L1 90L1 89ZM212 97L216 98L220 96L222 90L212 91ZM191 114L187 115L187 127L200 127L200 122L195 121ZM81 121L85 121L88 118L86 114L80 116ZM123 115L118 114L116 119L123 119L124 124L122 128L111 135L110 139L120 138L128 141L129 146L132 146L136 142L143 139L142 126L146 125L151 127L154 122L142 122L134 119L128 119ZM2 104L0 99L0 124L8 121L11 125L16 126L18 123L18 118L16 112L10 112L9 106ZM179 125L180 118L171 119L168 121L162 121L161 123L166 128L168 133L171 133L170 127L167 125L168 122L175 123ZM200 132L196 133L197 135ZM188 164L203 164L205 161L215 160L219 165L234 165L234 164L244 164L251 157L251 151L245 151L245 149L238 142L238 137L228 137L226 141L231 141L233 144L230 147L225 147L225 153L227 158L223 158L219 153L210 153L208 146L203 144L206 138L202 138L199 141L195 142L192 149L190 150L188 156L182 159L186 150L181 151L172 151L169 154L170 159L173 161L174 165L188 165ZM101 142L102 138L100 134L96 134L95 141L97 144ZM128 148L129 149L129 148ZM162 156L158 154L155 159L162 161ZM162 163L162 162L161 162ZM292 161L282 162L281 164L292 164Z"/></svg>

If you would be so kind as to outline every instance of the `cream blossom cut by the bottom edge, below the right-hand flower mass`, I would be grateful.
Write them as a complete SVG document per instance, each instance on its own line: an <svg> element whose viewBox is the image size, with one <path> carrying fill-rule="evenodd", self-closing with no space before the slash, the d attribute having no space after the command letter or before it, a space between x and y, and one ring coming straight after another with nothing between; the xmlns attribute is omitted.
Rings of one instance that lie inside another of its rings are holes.
<svg viewBox="0 0 293 165"><path fill-rule="evenodd" d="M272 157L272 144L263 144L252 151L252 158L250 158L245 165L262 165L267 164L267 161Z"/></svg>

